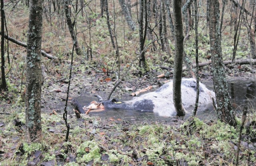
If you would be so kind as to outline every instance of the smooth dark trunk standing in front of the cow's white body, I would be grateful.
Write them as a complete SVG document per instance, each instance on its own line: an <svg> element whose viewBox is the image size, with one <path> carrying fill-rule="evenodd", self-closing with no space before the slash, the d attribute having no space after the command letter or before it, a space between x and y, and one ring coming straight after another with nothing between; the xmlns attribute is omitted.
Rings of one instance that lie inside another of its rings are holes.
<svg viewBox="0 0 256 166"><path fill-rule="evenodd" d="M181 79L182 79L182 59L183 59L183 25L181 14L182 1L173 1L174 13L174 40L175 40L175 57L173 72L173 102L178 116L185 115L185 109L181 99Z"/></svg>

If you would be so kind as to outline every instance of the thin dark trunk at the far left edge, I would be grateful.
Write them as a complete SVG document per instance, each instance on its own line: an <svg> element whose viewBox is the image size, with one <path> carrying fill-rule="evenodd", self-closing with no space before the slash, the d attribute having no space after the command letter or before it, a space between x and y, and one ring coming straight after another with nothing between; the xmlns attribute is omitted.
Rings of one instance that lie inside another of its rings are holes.
<svg viewBox="0 0 256 166"><path fill-rule="evenodd" d="M4 0L1 0L1 34L4 34ZM5 69L4 69L4 35L1 36L1 81L0 90L6 90L7 84L5 79Z"/></svg>

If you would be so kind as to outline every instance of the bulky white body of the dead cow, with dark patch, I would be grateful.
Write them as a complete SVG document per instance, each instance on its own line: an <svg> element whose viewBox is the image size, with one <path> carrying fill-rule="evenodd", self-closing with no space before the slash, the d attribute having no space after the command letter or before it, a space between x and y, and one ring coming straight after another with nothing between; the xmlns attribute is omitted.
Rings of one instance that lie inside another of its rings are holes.
<svg viewBox="0 0 256 166"><path fill-rule="evenodd" d="M164 84L154 92L146 93L132 100L125 101L129 105L134 105L134 109L145 112L154 112L159 116L175 116L176 111L173 104L172 81ZM212 97L215 99L215 93L206 88L202 83L200 85L198 106L208 108L212 106ZM191 110L196 101L196 80L193 78L182 79L181 85L182 103L186 110Z"/></svg>

